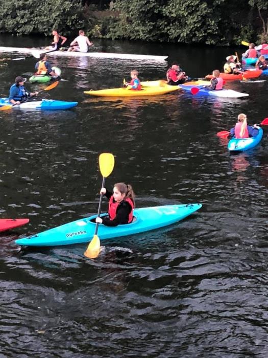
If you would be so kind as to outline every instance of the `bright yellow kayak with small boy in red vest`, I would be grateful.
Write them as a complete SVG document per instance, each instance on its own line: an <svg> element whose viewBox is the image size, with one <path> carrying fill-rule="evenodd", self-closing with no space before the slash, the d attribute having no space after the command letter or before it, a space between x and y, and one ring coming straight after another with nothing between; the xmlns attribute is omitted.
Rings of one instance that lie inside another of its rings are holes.
<svg viewBox="0 0 268 358"><path fill-rule="evenodd" d="M170 86L164 80L157 81L142 81L141 90L133 91L128 87L120 88L109 88L109 89L100 89L99 91L84 91L86 95L91 96L103 96L103 97L140 97L140 96L156 96L164 95L165 93L177 91L178 86Z"/></svg>

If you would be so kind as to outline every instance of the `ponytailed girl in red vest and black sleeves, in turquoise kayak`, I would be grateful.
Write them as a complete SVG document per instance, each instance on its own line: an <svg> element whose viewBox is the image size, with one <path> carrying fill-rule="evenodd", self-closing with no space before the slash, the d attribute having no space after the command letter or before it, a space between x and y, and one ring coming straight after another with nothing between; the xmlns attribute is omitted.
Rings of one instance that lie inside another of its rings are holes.
<svg viewBox="0 0 268 358"><path fill-rule="evenodd" d="M102 188L101 194L109 199L108 216L97 217L96 222L103 223L106 226L117 226L130 223L133 220L135 194L131 185L116 183L113 193Z"/></svg>

